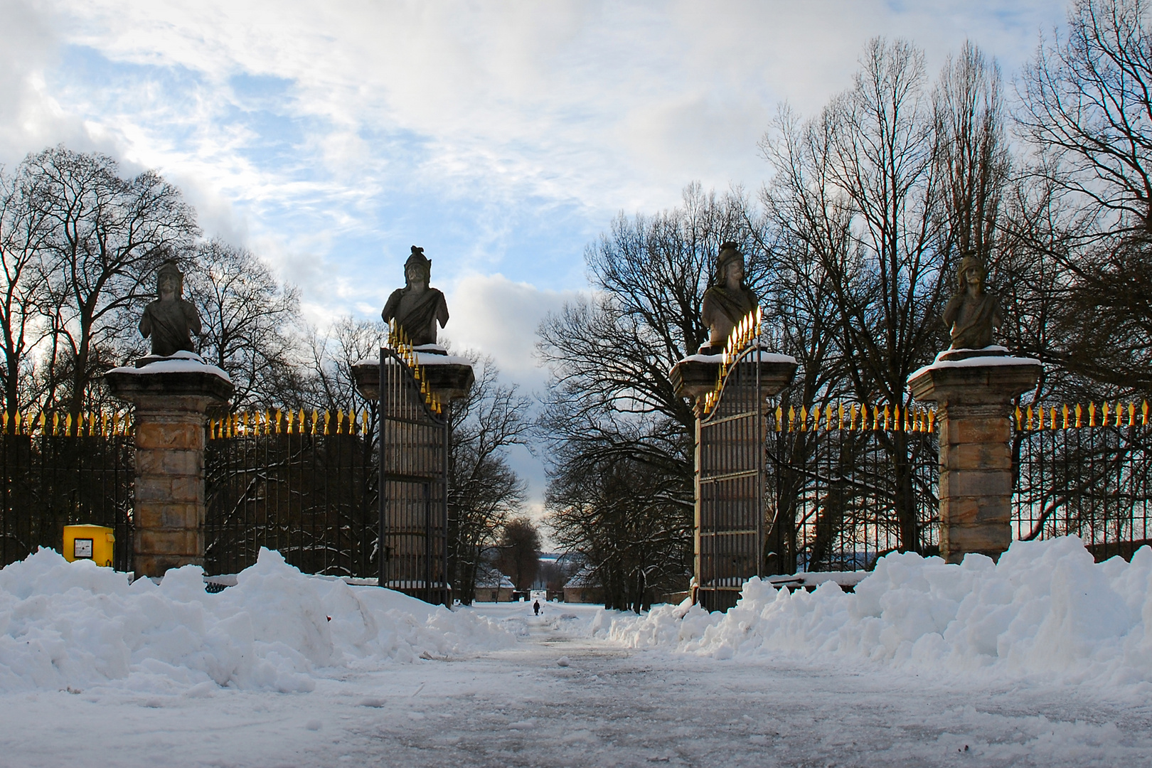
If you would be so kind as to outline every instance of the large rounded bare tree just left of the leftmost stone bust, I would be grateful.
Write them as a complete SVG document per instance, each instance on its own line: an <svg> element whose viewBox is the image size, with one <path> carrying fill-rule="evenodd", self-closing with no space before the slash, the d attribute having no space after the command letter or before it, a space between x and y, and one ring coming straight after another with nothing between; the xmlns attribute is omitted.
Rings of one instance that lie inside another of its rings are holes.
<svg viewBox="0 0 1152 768"><path fill-rule="evenodd" d="M118 347L137 344L131 310L151 297L159 264L189 251L195 214L156 173L122 178L116 161L103 154L58 146L23 165L30 205L45 229L38 303L52 340L45 404L78 413L92 380L119 363Z"/></svg>

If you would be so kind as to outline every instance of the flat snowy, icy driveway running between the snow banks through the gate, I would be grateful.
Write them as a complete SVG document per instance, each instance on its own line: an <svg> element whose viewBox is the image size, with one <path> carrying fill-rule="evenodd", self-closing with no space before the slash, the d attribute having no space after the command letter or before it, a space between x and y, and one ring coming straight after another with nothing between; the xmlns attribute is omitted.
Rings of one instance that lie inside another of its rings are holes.
<svg viewBox="0 0 1152 768"><path fill-rule="evenodd" d="M1131 691L631 651L582 637L594 608L476 610L521 641L332 670L309 693L3 694L0 766L1152 765Z"/></svg>

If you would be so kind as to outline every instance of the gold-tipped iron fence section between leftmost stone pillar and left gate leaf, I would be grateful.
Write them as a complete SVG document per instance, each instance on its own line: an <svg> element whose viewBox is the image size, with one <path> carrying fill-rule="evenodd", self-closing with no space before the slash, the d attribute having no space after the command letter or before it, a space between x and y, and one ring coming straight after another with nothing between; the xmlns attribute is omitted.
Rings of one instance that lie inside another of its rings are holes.
<svg viewBox="0 0 1152 768"><path fill-rule="evenodd" d="M305 573L378 575L374 418L358 417L278 410L210 423L207 573L236 573L267 547Z"/></svg>

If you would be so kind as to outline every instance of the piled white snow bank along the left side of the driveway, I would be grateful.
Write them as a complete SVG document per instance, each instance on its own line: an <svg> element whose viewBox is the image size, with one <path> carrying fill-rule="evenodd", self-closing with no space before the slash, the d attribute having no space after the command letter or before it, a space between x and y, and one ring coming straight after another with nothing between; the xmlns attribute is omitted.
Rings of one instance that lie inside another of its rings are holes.
<svg viewBox="0 0 1152 768"><path fill-rule="evenodd" d="M108 684L311 691L313 672L505 647L494 622L391 590L309 577L260 549L209 594L199 567L128 583L51 549L0 570L0 692ZM332 617L331 621L328 617Z"/></svg>

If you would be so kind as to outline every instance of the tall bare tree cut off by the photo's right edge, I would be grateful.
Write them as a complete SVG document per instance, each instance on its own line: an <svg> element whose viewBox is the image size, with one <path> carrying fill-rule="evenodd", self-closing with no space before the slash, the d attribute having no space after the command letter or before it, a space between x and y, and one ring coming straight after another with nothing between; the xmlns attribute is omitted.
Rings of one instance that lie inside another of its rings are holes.
<svg viewBox="0 0 1152 768"><path fill-rule="evenodd" d="M1022 77L1018 122L1082 212L1046 256L1066 288L1053 353L1116 394L1152 393L1152 29L1143 0L1078 0ZM1044 243L1038 243L1044 245Z"/></svg>

